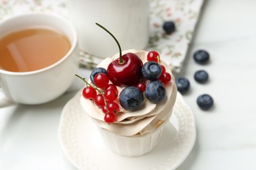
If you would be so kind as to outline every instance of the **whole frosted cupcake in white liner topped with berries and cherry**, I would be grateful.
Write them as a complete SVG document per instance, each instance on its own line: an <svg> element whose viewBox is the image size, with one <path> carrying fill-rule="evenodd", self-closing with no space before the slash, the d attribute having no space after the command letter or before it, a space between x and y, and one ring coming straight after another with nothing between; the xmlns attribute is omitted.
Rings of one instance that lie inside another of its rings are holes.
<svg viewBox="0 0 256 170"><path fill-rule="evenodd" d="M81 106L107 148L141 156L157 146L177 95L175 78L158 52L125 50L104 59L90 80L82 79Z"/></svg>

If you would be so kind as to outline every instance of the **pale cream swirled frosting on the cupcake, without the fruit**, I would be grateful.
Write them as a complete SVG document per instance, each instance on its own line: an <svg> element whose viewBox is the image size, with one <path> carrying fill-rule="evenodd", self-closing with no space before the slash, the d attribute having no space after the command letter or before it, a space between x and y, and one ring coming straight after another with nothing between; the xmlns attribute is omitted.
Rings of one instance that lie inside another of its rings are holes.
<svg viewBox="0 0 256 170"><path fill-rule="evenodd" d="M142 60L142 63L147 61L146 56L148 52L146 51L125 50L122 54L126 54L128 52L136 54ZM97 67L107 69L109 63L117 58L119 58L119 53L114 55L112 58L104 59ZM116 114L116 122L114 122L114 124L107 124L104 122L104 113L102 110L98 109L92 101L81 97L81 105L83 109L93 120L95 120L95 123L99 127L112 131L117 135L133 136L154 131L154 129L156 129L162 122L169 120L177 95L175 78L171 73L171 70L163 61L161 61L160 64L164 65L166 71L171 74L171 82L164 85L166 95L165 99L163 99L161 103L150 103L150 101L148 101L144 96L144 103L139 109L133 111L121 109L120 112ZM123 88L118 87L117 89L121 92ZM116 102L118 101L119 99L117 99Z"/></svg>

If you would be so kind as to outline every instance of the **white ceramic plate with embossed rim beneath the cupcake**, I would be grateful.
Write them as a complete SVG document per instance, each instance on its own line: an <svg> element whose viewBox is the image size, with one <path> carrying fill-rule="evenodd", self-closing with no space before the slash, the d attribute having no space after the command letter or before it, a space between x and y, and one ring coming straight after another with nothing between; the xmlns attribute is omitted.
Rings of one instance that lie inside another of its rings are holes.
<svg viewBox="0 0 256 170"><path fill-rule="evenodd" d="M80 106L81 92L65 105L58 135L68 159L78 169L176 169L196 141L194 115L180 93L160 143L139 157L114 154L104 146L100 133Z"/></svg>

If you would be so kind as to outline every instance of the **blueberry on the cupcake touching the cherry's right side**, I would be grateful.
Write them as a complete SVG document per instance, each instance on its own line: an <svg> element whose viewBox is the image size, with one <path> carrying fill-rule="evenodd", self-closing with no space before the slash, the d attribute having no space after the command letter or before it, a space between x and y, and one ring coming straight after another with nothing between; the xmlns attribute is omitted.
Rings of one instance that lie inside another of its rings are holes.
<svg viewBox="0 0 256 170"><path fill-rule="evenodd" d="M142 66L141 72L148 80L158 80L161 76L161 65L155 61L148 61Z"/></svg>

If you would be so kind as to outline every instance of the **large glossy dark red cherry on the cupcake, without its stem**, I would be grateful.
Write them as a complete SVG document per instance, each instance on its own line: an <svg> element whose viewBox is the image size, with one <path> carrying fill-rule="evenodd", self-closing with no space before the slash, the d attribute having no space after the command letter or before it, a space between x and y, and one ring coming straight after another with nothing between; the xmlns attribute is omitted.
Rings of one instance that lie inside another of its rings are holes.
<svg viewBox="0 0 256 170"><path fill-rule="evenodd" d="M119 63L119 59L115 59L108 65L108 77L116 86L132 86L136 85L142 77L141 59L133 53L127 53L121 56L123 63Z"/></svg>

